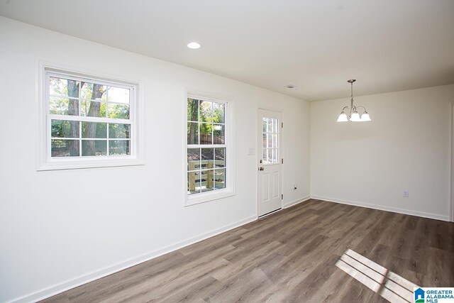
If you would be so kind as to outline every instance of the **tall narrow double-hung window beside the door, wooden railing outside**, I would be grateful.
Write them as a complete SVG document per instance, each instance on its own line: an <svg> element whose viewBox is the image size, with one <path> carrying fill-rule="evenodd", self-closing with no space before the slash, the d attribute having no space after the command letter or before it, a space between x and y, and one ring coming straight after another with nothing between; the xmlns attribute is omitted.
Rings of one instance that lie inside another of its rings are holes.
<svg viewBox="0 0 454 303"><path fill-rule="evenodd" d="M187 195L188 202L216 199L228 192L228 103L216 99L187 98Z"/></svg>

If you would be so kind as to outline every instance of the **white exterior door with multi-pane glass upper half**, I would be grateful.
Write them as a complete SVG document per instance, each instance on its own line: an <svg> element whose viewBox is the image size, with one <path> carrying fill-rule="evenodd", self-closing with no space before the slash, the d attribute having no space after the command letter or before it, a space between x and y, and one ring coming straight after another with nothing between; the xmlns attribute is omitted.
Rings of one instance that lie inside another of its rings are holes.
<svg viewBox="0 0 454 303"><path fill-rule="evenodd" d="M282 208L282 114L258 110L258 216Z"/></svg>

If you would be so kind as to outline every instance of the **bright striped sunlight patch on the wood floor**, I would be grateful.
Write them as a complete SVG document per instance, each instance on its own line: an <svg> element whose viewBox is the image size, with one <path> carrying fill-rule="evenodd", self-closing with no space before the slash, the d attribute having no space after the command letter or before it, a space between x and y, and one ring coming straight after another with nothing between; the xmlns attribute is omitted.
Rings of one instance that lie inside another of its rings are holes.
<svg viewBox="0 0 454 303"><path fill-rule="evenodd" d="M417 285L351 249L345 250L336 266L389 302L413 302L413 288Z"/></svg>

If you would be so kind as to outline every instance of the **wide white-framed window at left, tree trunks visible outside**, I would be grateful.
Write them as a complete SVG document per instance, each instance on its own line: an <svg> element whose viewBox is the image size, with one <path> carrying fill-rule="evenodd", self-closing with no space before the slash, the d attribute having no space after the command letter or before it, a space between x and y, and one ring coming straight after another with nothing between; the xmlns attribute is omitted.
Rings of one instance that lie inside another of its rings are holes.
<svg viewBox="0 0 454 303"><path fill-rule="evenodd" d="M141 164L137 84L45 69L43 169Z"/></svg>

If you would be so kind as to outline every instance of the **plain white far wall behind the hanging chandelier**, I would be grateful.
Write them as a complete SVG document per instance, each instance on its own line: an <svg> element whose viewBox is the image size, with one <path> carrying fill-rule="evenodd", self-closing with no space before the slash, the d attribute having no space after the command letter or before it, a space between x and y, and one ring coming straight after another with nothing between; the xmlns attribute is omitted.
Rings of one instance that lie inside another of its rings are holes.
<svg viewBox="0 0 454 303"><path fill-rule="evenodd" d="M454 85L355 97L372 121L336 122L349 99L311 103L311 197L448 220Z"/></svg>

